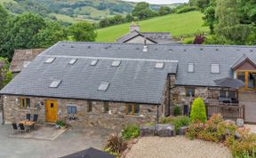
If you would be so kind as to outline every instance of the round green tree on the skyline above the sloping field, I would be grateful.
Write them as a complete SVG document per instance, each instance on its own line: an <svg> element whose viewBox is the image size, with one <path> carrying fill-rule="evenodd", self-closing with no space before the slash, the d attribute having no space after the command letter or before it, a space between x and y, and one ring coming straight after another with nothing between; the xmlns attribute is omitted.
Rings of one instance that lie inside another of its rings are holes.
<svg viewBox="0 0 256 158"><path fill-rule="evenodd" d="M150 6L148 3L141 2L141 3L138 3L133 9L132 16L138 17L139 20L145 20L149 17L156 16L156 12L150 9Z"/></svg>

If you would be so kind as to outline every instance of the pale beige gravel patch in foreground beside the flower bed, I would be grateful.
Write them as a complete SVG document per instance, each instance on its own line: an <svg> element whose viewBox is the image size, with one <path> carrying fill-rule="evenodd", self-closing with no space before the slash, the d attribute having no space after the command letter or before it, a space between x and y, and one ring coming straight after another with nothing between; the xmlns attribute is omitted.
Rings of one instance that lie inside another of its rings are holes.
<svg viewBox="0 0 256 158"><path fill-rule="evenodd" d="M227 147L185 137L143 137L126 158L232 158Z"/></svg>

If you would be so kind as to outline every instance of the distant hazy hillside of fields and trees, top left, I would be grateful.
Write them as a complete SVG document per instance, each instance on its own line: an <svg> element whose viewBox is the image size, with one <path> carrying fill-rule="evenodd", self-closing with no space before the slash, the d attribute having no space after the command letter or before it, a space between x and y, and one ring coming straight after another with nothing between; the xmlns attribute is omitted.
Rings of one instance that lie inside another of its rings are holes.
<svg viewBox="0 0 256 158"><path fill-rule="evenodd" d="M66 22L98 21L104 17L126 15L135 5L121 0L0 0L0 4L13 14L29 11Z"/></svg>

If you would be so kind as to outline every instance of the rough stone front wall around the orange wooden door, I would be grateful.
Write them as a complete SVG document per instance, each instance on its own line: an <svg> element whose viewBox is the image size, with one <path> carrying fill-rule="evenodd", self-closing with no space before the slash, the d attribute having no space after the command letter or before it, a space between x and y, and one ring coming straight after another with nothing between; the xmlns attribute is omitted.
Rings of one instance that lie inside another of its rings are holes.
<svg viewBox="0 0 256 158"><path fill-rule="evenodd" d="M24 98L24 97L22 97ZM39 122L45 122L45 100L51 98L26 97L30 99L30 108L19 107L19 96L4 96L4 121L5 123L20 122L24 120L26 114L38 114ZM125 103L108 102L109 112L104 113L104 102L92 100L92 112L87 113L88 101L84 99L55 99L58 104L58 119L68 121L68 105L76 106L77 120L72 121L79 126L98 126L116 129L124 124L132 122L156 122L157 106L140 104L140 115L126 115ZM159 105L159 116L162 115Z"/></svg>

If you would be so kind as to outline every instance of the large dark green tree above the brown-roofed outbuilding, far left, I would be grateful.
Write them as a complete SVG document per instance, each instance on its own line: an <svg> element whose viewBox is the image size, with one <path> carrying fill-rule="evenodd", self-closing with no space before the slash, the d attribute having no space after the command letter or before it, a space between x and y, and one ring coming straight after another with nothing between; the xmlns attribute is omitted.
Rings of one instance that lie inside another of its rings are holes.
<svg viewBox="0 0 256 158"><path fill-rule="evenodd" d="M0 55L12 59L15 49L36 48L39 43L36 35L45 28L45 21L43 17L28 12L9 20L7 27L6 40Z"/></svg>

